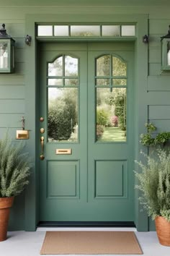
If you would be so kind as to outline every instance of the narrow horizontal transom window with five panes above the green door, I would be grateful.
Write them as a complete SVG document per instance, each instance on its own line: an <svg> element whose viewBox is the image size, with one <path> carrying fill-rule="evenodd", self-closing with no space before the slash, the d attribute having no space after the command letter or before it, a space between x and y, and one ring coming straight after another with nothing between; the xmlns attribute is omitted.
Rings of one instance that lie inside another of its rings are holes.
<svg viewBox="0 0 170 256"><path fill-rule="evenodd" d="M135 37L135 25L37 25L37 36L45 38Z"/></svg>

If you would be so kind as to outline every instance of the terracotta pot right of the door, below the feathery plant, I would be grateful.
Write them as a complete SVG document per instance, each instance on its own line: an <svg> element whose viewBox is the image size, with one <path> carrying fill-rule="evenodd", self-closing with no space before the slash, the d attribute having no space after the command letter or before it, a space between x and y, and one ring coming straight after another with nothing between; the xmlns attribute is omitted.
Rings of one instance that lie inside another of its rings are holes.
<svg viewBox="0 0 170 256"><path fill-rule="evenodd" d="M155 218L156 232L160 244L170 246L170 222L164 217L158 216Z"/></svg>

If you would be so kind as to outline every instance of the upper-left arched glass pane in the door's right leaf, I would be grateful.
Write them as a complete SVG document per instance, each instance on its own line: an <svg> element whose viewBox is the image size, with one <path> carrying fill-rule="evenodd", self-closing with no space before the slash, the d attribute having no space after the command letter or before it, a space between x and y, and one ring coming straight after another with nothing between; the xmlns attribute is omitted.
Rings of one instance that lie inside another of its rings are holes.
<svg viewBox="0 0 170 256"><path fill-rule="evenodd" d="M110 55L104 55L97 59L97 76L109 76Z"/></svg>

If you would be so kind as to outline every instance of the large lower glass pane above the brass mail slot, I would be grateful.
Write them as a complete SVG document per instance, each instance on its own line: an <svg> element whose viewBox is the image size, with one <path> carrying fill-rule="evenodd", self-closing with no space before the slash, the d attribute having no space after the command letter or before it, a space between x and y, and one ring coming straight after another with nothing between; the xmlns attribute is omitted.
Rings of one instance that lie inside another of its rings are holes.
<svg viewBox="0 0 170 256"><path fill-rule="evenodd" d="M78 89L48 88L48 142L78 142Z"/></svg>

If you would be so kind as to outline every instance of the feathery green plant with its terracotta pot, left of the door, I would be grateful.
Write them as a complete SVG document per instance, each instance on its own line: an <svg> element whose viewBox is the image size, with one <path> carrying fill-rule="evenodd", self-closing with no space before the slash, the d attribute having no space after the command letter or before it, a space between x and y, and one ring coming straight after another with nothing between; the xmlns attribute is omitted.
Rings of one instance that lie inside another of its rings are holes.
<svg viewBox="0 0 170 256"><path fill-rule="evenodd" d="M9 211L30 176L30 159L22 143L12 143L8 134L0 140L0 242L6 240Z"/></svg>

